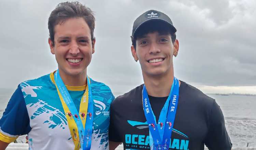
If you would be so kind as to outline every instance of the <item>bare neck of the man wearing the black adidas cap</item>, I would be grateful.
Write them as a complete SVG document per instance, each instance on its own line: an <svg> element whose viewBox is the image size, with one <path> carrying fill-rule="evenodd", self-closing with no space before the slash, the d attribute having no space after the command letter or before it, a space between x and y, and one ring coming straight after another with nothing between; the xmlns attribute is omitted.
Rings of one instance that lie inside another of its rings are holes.
<svg viewBox="0 0 256 150"><path fill-rule="evenodd" d="M174 78L173 67L163 75L150 76L143 74L143 80L148 95L154 97L166 97L169 95Z"/></svg>

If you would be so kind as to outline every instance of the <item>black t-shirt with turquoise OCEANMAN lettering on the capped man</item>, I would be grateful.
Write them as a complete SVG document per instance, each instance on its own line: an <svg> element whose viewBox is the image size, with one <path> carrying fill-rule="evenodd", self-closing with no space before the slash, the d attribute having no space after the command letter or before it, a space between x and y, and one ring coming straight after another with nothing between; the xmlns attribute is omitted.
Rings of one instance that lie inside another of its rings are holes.
<svg viewBox="0 0 256 150"><path fill-rule="evenodd" d="M149 129L142 107L143 85L118 96L111 104L109 140L123 142L124 150L150 150ZM149 96L159 118L167 97ZM169 150L230 150L221 108L214 99L181 81Z"/></svg>

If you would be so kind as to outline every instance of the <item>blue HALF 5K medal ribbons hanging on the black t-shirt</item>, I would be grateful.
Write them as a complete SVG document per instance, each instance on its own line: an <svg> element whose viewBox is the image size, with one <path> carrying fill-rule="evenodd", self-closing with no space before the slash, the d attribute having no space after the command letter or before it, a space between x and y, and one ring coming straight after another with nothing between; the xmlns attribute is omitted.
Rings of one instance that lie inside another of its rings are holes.
<svg viewBox="0 0 256 150"><path fill-rule="evenodd" d="M156 117L152 111L147 90L145 85L142 90L142 103L144 114L148 123L150 131L150 143L153 145L152 149L168 150L170 145L170 139L172 134L172 128L175 120L177 104L179 99L179 80L173 78L171 91L163 106L158 123L156 124ZM153 144L152 144L153 142Z"/></svg>

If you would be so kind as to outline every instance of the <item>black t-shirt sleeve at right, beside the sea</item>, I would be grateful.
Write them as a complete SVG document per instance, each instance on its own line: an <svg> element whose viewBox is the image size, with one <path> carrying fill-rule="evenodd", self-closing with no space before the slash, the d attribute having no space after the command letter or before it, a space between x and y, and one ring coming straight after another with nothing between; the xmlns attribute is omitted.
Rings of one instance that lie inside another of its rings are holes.
<svg viewBox="0 0 256 150"><path fill-rule="evenodd" d="M230 150L232 147L222 110L215 100L212 105L208 134L204 143L209 150Z"/></svg>

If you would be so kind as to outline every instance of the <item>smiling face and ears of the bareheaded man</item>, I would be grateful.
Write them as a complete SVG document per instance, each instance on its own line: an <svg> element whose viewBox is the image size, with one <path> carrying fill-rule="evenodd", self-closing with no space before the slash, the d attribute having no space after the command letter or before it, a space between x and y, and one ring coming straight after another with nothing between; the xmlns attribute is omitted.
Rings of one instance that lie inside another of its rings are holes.
<svg viewBox="0 0 256 150"><path fill-rule="evenodd" d="M54 45L49 39L52 54L58 63L60 74L85 75L94 53L95 40L83 18L69 18L54 28Z"/></svg>

